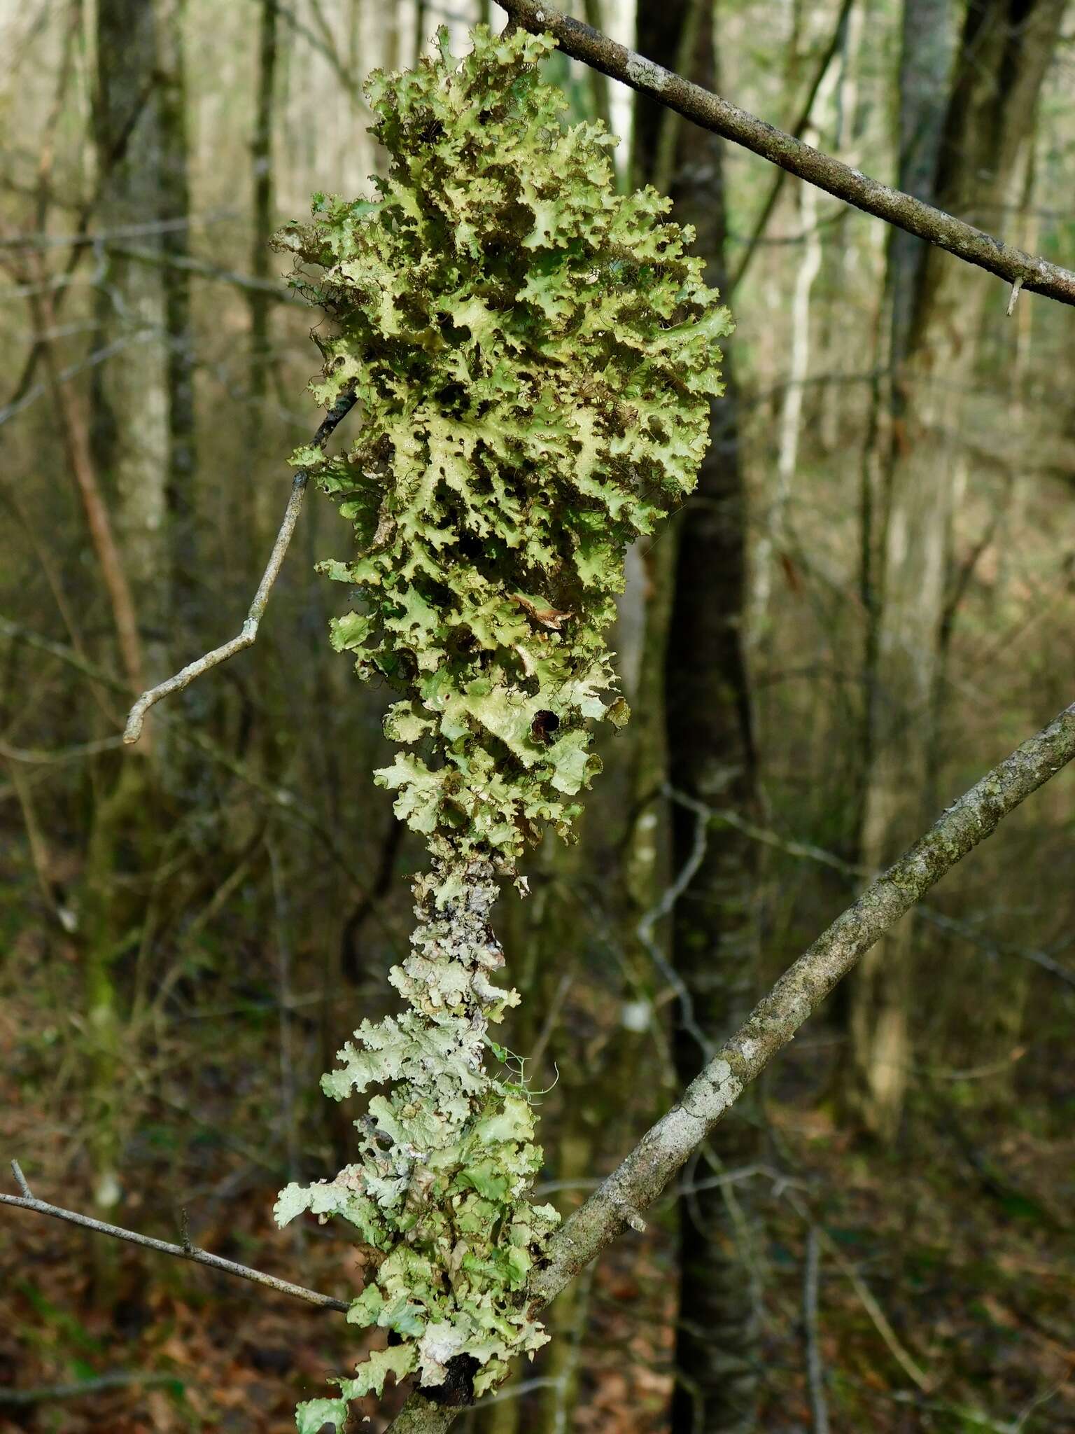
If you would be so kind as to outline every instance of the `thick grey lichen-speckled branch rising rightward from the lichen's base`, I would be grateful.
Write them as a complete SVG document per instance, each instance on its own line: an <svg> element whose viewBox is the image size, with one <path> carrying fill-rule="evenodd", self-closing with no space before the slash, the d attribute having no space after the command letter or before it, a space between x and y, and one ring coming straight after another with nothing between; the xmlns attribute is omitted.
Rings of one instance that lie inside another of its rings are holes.
<svg viewBox="0 0 1075 1434"><path fill-rule="evenodd" d="M552 1236L545 1266L530 1281L530 1314L639 1220L747 1086L787 1045L833 987L942 876L992 836L1000 822L1075 759L1075 704L1029 737L946 809L859 901L784 972L724 1043L678 1104L652 1126L626 1160ZM440 1434L459 1410L411 1394L390 1434Z"/></svg>

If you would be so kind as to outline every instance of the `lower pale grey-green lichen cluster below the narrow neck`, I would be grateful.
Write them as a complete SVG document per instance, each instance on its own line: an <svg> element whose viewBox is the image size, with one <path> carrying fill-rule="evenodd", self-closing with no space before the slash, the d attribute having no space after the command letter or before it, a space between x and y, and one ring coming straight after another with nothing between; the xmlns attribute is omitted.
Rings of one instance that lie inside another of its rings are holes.
<svg viewBox="0 0 1075 1434"><path fill-rule="evenodd" d="M340 1398L328 1401L340 1425L347 1401L380 1394L388 1371L436 1387L449 1359L470 1355L480 1394L510 1355L546 1339L526 1314L526 1285L558 1216L526 1199L542 1163L527 1093L510 1071L486 1067L489 1051L506 1055L489 1022L515 998L490 978L503 965L487 919L493 868L470 862L452 879L460 892L446 885L439 862L414 883L413 952L391 971L411 1010L363 1021L322 1080L334 1100L383 1087L357 1121L355 1163L333 1180L290 1184L275 1207L280 1225L310 1212L351 1226L371 1273L348 1319L400 1341L341 1381ZM499 1055L494 1064L503 1065ZM315 1404L322 1421L333 1417L325 1401Z"/></svg>

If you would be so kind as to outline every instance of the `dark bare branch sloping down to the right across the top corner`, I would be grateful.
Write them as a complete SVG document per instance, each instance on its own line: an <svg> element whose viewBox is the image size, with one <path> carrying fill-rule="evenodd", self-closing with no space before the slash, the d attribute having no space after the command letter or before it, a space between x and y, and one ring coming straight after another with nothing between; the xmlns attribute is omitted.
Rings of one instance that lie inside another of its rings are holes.
<svg viewBox="0 0 1075 1434"><path fill-rule="evenodd" d="M972 224L936 209L902 189L893 189L859 169L840 163L794 135L757 119L720 95L691 85L681 75L646 60L636 50L618 44L601 30L592 30L553 10L543 0L499 0L510 19L535 34L549 33L565 54L629 85L639 95L648 95L659 105L710 129L715 135L744 149L761 155L770 163L806 179L807 184L844 199L866 214L906 229L927 244L947 250L956 258L1008 280L1032 294L1045 294L1059 304L1075 304L1075 274L1033 254L1025 254L1010 244L976 229Z"/></svg>

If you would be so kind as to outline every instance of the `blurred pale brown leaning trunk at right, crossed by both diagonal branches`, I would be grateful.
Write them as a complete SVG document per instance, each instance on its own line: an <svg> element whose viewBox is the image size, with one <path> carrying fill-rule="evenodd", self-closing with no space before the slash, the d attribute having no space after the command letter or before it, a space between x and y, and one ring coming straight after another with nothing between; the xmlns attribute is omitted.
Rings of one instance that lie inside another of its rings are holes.
<svg viewBox="0 0 1075 1434"><path fill-rule="evenodd" d="M940 16L936 6L926 9L932 22L907 16L904 46L936 43L929 23L936 26ZM972 224L1003 224L1006 206L1018 199L1019 156L1064 9L1064 0L973 0L968 7L940 129L935 195L942 208ZM922 82L929 63L939 66L939 54L923 50L917 62L904 56L902 67L904 162L917 166L919 184L927 156L912 141L924 146L935 123L930 86ZM870 770L861 823L861 860L871 868L883 866L923 817L953 516L955 463L945 435L959 430L975 373L975 340L992 293L978 274L936 250L914 255L904 238L893 235L890 251L893 424L874 584ZM999 307L996 321L1003 318ZM910 987L907 918L863 961L851 988L849 1094L863 1127L886 1140L897 1129L906 1091Z"/></svg>

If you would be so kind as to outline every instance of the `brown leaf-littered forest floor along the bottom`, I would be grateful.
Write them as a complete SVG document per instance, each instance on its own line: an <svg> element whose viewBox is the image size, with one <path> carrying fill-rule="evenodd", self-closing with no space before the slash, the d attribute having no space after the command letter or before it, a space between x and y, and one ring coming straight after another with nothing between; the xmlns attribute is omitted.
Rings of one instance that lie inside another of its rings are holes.
<svg viewBox="0 0 1075 1434"><path fill-rule="evenodd" d="M40 1197L87 1210L80 1067L63 1014L76 968L54 948L40 958L24 935L6 949L0 1153L4 1166L23 1162ZM236 1022L228 1043L205 1021L199 1030L169 1027L153 1061L139 1060L116 1222L178 1239L182 1207L205 1249L330 1293L357 1291L360 1262L337 1230L272 1225L282 1183L272 1018ZM836 1434L1074 1430L1075 1131L1032 1116L1069 1093L1038 1091L1000 1120L919 1086L899 1147L880 1154L850 1144L823 1098L833 1044L818 1030L813 1051L804 1044L781 1064L765 1097L768 1164L737 1186L763 1306L758 1428L814 1428L808 1332ZM811 1226L818 1299L804 1324ZM112 1291L103 1308L102 1288ZM295 1402L328 1392L327 1378L368 1348L335 1314L1 1207L0 1291L0 1434L285 1434ZM569 1428L666 1430L672 1291L666 1209L599 1265ZM522 1378L540 1372L539 1357ZM378 1412L368 1401L370 1423L355 1427L384 1428L391 1402ZM520 1434L533 1421L526 1401Z"/></svg>

